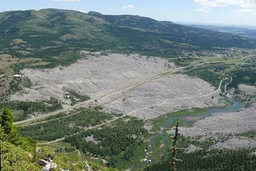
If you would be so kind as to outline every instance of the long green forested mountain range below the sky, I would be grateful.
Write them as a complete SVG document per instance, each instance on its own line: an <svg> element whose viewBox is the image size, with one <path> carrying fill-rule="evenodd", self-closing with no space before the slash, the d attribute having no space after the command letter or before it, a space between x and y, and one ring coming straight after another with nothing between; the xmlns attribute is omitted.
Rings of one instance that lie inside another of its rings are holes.
<svg viewBox="0 0 256 171"><path fill-rule="evenodd" d="M180 50L256 47L256 41L247 37L169 21L61 9L0 13L0 42L1 53L37 57L84 48L168 55Z"/></svg>

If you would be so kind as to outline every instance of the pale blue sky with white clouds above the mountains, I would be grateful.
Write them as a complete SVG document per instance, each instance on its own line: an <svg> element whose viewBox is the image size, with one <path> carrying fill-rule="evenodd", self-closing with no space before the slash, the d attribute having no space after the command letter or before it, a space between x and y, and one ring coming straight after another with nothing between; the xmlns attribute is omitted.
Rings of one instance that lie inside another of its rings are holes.
<svg viewBox="0 0 256 171"><path fill-rule="evenodd" d="M0 0L0 11L61 8L162 21L256 25L256 0Z"/></svg>

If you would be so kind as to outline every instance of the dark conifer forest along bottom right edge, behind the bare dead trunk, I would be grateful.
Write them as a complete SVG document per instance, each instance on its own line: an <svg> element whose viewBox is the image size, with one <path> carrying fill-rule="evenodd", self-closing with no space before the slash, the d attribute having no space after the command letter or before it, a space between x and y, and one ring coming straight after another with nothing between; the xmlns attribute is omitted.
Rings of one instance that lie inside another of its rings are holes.
<svg viewBox="0 0 256 171"><path fill-rule="evenodd" d="M177 170L221 170L221 171L253 171L256 168L254 150L199 150L194 153L180 153ZM171 171L171 155L164 160L148 166L143 171Z"/></svg>

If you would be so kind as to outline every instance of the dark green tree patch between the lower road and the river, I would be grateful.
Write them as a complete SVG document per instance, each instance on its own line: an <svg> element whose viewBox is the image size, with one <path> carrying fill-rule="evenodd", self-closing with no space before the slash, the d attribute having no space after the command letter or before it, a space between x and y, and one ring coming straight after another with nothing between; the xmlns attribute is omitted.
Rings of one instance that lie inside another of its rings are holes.
<svg viewBox="0 0 256 171"><path fill-rule="evenodd" d="M140 163L141 156L148 146L148 131L143 128L143 124L143 121L135 118L117 121L116 125L83 131L66 137L64 141L84 153L107 159L108 166L129 169ZM86 137L93 137L93 140L87 141Z"/></svg>

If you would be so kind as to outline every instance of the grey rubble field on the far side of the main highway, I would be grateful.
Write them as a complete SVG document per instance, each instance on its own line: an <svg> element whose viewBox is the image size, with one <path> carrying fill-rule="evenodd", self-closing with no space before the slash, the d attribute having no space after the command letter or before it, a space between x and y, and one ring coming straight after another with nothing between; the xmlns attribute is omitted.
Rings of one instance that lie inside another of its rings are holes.
<svg viewBox="0 0 256 171"><path fill-rule="evenodd" d="M161 58L138 54L94 55L98 53L85 52L85 59L65 68L22 70L21 73L37 86L11 95L11 100L35 101L54 97L69 104L64 98L67 90L74 90L82 95L99 95L166 69L166 60Z"/></svg>

